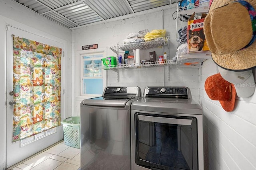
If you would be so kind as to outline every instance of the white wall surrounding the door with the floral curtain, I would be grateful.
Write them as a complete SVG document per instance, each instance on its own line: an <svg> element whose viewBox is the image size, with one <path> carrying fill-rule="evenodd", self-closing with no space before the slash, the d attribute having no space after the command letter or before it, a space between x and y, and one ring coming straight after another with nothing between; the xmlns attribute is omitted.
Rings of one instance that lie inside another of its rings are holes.
<svg viewBox="0 0 256 170"><path fill-rule="evenodd" d="M6 96L6 24L54 39L64 44L64 116L71 116L71 30L62 27L10 0L0 1L0 96ZM0 169L6 168L6 97L0 98Z"/></svg>

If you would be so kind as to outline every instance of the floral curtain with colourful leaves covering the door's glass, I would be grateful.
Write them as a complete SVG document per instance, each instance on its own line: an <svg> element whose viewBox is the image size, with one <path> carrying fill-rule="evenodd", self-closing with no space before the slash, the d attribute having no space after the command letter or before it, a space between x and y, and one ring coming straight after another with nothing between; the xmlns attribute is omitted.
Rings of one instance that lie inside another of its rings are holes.
<svg viewBox="0 0 256 170"><path fill-rule="evenodd" d="M13 35L13 142L60 125L61 53Z"/></svg>

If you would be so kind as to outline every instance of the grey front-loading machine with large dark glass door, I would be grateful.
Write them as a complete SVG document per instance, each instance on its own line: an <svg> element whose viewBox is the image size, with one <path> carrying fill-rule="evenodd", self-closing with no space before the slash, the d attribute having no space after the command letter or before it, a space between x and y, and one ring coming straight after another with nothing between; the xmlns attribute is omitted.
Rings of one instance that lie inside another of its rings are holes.
<svg viewBox="0 0 256 170"><path fill-rule="evenodd" d="M146 87L131 106L132 170L203 170L202 107L188 87Z"/></svg>

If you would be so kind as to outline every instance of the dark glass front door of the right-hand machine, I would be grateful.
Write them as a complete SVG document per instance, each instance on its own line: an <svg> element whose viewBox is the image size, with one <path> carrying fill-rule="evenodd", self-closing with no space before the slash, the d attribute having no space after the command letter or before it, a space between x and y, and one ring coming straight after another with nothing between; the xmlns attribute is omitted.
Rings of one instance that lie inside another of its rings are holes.
<svg viewBox="0 0 256 170"><path fill-rule="evenodd" d="M135 114L135 162L146 168L196 170L195 117Z"/></svg>

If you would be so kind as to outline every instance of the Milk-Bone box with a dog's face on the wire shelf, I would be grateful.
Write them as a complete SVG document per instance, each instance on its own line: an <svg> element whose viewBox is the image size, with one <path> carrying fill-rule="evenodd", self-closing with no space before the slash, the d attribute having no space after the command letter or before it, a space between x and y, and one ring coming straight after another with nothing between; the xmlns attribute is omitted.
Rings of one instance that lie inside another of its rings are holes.
<svg viewBox="0 0 256 170"><path fill-rule="evenodd" d="M188 20L188 53L195 53L198 51L209 51L204 36L204 18L206 14L202 14L201 19L194 20L195 13L192 14Z"/></svg>

